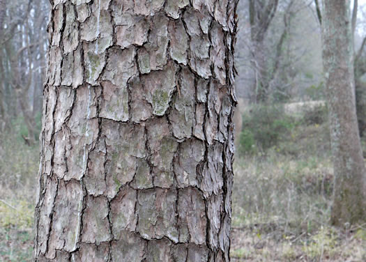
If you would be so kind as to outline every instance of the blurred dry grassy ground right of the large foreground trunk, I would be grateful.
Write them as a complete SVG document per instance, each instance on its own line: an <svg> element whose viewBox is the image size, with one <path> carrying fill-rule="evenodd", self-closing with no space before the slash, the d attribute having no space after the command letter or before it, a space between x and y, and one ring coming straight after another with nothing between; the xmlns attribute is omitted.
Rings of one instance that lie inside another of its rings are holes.
<svg viewBox="0 0 366 262"><path fill-rule="evenodd" d="M329 224L327 123L301 123L287 137L266 151L237 157L232 261L366 261L366 224Z"/></svg>

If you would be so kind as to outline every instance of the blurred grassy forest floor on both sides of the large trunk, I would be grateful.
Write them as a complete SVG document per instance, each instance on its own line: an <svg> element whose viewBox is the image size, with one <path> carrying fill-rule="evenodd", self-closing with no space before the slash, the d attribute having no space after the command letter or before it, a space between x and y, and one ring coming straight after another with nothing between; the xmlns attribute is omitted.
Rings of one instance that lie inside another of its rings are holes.
<svg viewBox="0 0 366 262"><path fill-rule="evenodd" d="M326 123L298 126L266 151L236 156L231 261L366 261L366 225L329 224ZM366 141L363 141L366 145ZM0 148L0 262L32 261L38 146Z"/></svg>

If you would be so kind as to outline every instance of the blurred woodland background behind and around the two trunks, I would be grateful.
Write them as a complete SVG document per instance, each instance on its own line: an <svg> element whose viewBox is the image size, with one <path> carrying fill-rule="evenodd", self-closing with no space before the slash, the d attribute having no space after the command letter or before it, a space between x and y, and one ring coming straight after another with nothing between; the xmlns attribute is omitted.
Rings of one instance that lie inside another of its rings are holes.
<svg viewBox="0 0 366 262"><path fill-rule="evenodd" d="M362 135L366 3L357 8ZM32 260L48 12L47 0L0 0L0 261ZM231 259L366 261L366 229L329 223L334 172L315 1L241 0L237 13Z"/></svg>

